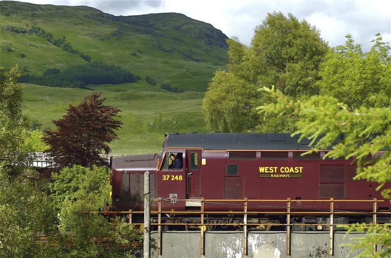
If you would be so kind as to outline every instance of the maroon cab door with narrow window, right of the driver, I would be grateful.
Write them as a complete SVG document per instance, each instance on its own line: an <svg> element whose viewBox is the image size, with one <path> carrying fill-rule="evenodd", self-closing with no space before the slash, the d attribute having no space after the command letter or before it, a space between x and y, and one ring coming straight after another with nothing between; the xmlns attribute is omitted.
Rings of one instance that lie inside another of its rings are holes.
<svg viewBox="0 0 391 258"><path fill-rule="evenodd" d="M201 150L186 151L187 198L201 197Z"/></svg>

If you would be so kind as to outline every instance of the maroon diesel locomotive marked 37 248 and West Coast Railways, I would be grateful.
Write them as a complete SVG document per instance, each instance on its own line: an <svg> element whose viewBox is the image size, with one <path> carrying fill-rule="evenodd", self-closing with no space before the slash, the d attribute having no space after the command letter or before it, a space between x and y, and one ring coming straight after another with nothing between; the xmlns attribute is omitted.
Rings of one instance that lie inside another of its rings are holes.
<svg viewBox="0 0 391 258"><path fill-rule="evenodd" d="M334 216L334 223L372 221L372 216L368 215L373 212L370 200L383 199L375 190L377 184L353 180L357 165L352 159L323 159L327 150L303 156L302 153L310 149L309 141L298 142L298 138L290 134L260 133L166 135L160 154L113 159L111 209L143 210L144 172L148 170L150 197L171 200L161 203L162 211L200 211L200 201L197 201L200 198L212 200L205 201L204 211L243 211L243 202L229 200L247 198L260 200L248 202L247 210L252 215L247 221L284 223L284 216L275 216L272 212L286 211L286 202L274 200L291 198L295 200L290 204L291 211L297 215L291 217L291 222L327 223L328 215L321 213L329 211L330 203L322 200L334 198L363 200L335 201L335 211L356 214ZM157 208L155 201L151 210L157 211ZM378 222L390 221L390 215L386 214L391 208L390 201L377 202L376 208ZM212 223L240 222L242 219L235 215L208 215L205 218ZM171 214L163 220L167 223L191 222L194 218ZM298 230L316 230L311 226L297 227Z"/></svg>

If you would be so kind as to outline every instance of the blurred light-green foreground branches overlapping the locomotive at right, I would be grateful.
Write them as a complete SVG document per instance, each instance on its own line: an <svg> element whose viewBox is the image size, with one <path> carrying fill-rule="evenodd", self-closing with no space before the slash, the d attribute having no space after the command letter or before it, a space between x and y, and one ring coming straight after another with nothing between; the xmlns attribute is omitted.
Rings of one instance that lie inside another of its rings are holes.
<svg viewBox="0 0 391 258"><path fill-rule="evenodd" d="M333 97L313 96L303 101L294 100L281 91L264 87L262 89L275 101L257 109L267 114L296 115L297 132L300 139L311 139L312 151L324 150L332 146L326 154L329 158L353 157L358 164L354 179L367 179L378 183L376 190L390 199L391 189L386 183L391 181L391 110L389 108L360 107L353 111ZM381 134L379 134L379 132ZM343 134L344 137L340 137ZM338 140L337 144L335 141ZM382 155L377 155L384 151ZM373 159L366 161L365 157ZM370 166L363 166L370 165ZM388 201L388 200L386 200ZM391 223L383 225L356 224L350 231L366 231L366 237L358 238L350 245L363 251L358 257L388 257L391 245L373 253L373 243L390 244Z"/></svg>

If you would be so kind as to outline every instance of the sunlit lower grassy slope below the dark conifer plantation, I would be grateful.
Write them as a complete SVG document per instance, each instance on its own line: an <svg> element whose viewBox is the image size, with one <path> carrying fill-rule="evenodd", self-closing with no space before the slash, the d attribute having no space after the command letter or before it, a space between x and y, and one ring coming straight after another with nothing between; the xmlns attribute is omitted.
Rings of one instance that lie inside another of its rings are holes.
<svg viewBox="0 0 391 258"><path fill-rule="evenodd" d="M92 94L84 89L55 88L35 84L24 85L24 112L42 124L53 128L52 119L65 114L70 104L78 104ZM121 85L91 87L102 92L106 104L121 109L120 139L110 144L112 153L156 153L160 151L166 132L202 132L204 120L200 112L203 94L187 91L168 93L145 81Z"/></svg>

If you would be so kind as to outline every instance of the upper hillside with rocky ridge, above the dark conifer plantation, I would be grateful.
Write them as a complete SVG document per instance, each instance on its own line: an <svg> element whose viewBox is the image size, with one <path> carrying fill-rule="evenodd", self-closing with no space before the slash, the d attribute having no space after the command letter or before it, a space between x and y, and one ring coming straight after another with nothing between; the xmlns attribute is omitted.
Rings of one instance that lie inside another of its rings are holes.
<svg viewBox="0 0 391 258"><path fill-rule="evenodd" d="M203 92L213 72L224 68L227 37L212 25L176 13L116 17L86 6L0 1L0 60L10 68L41 75L87 61L48 42L39 27L65 36L91 61L128 69L142 78Z"/></svg>

